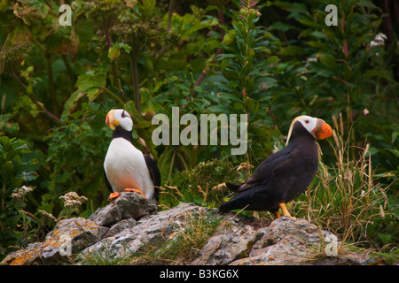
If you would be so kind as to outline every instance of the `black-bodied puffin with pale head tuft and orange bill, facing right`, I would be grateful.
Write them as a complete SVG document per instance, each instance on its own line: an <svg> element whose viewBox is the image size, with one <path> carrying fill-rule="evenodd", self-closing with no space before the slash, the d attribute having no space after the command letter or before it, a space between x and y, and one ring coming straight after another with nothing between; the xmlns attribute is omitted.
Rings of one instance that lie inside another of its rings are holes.
<svg viewBox="0 0 399 283"><path fill-rule="evenodd" d="M293 119L286 148L268 157L254 174L242 184L226 186L237 193L219 207L230 210L269 210L276 218L291 217L286 203L301 195L315 177L318 164L316 140L332 136L332 128L322 119L299 116Z"/></svg>

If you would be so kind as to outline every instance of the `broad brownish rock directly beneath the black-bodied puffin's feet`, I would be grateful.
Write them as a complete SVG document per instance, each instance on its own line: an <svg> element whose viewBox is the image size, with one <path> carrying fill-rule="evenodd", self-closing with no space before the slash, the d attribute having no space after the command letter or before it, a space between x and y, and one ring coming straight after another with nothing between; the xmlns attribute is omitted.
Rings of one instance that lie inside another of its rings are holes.
<svg viewBox="0 0 399 283"><path fill-rule="evenodd" d="M305 219L278 218L270 226L257 230L249 255L231 265L362 264L356 253L326 256L322 243L328 236L335 237ZM338 251L340 242L336 244Z"/></svg>

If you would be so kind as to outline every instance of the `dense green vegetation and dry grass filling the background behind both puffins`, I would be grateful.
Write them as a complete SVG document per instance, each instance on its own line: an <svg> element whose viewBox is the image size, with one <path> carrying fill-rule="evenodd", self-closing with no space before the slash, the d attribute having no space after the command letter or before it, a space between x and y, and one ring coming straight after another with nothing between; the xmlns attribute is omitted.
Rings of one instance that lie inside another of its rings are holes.
<svg viewBox="0 0 399 283"><path fill-rule="evenodd" d="M60 4L72 5L70 27L59 25ZM334 209L302 216L323 218L318 224L344 240L397 254L399 3L253 4L1 2L0 258L41 240L55 224L43 211L65 215L59 196L66 192L88 198L83 217L106 205L105 119L113 108L129 111L137 148L158 160L165 206L223 202L225 191L212 188L245 180L282 149L293 118L325 119L335 135L320 142L323 173L299 203L308 202L307 211ZM327 4L338 7L336 27L325 25ZM231 156L231 146L221 145L155 147L152 117L171 117L174 106L198 118L247 114L246 154ZM12 196L22 186L34 190ZM369 193L376 197L364 202Z"/></svg>

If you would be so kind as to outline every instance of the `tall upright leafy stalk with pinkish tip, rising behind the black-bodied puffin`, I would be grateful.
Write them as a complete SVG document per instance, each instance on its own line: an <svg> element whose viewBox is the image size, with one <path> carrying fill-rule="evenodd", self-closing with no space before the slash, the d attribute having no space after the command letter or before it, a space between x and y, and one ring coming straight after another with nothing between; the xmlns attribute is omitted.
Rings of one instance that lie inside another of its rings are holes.
<svg viewBox="0 0 399 283"><path fill-rule="evenodd" d="M272 70L279 59L271 55L278 49L278 38L257 27L261 13L254 1L241 1L240 10L234 12L232 28L220 44L222 54L216 57L221 76L212 81L218 103L209 107L220 113L242 113L248 119L248 148L246 160L260 164L257 157L271 152L272 142L278 141L278 130L273 129L270 118L270 88L278 85ZM254 160L253 160L254 159Z"/></svg>

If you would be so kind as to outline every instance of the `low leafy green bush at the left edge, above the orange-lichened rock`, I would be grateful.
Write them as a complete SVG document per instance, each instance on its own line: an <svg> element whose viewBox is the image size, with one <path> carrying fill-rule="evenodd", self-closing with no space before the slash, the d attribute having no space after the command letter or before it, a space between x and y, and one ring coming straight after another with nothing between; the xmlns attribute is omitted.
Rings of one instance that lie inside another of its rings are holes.
<svg viewBox="0 0 399 283"><path fill-rule="evenodd" d="M32 191L26 185L38 177L38 161L26 142L0 136L0 164L0 255L4 256L9 246L27 246L35 238L35 231L28 230L35 219L24 209Z"/></svg>

